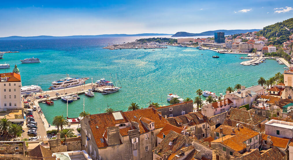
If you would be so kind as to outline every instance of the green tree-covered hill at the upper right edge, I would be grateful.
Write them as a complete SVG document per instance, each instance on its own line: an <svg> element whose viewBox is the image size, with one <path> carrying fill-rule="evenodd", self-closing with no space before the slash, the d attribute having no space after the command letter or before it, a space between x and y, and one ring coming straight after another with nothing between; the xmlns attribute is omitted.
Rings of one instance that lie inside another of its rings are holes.
<svg viewBox="0 0 293 160"><path fill-rule="evenodd" d="M268 39L269 44L279 45L289 40L289 36L293 33L293 18L277 22L273 25L263 27L258 31L258 36L264 36ZM279 38L279 39L277 39Z"/></svg>

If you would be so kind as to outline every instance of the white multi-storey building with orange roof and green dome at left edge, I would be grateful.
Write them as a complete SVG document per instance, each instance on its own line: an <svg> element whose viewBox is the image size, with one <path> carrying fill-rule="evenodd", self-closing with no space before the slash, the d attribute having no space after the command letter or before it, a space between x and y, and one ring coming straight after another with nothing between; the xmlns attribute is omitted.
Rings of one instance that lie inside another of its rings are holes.
<svg viewBox="0 0 293 160"><path fill-rule="evenodd" d="M11 73L0 74L0 110L21 108L21 76L17 65Z"/></svg>

